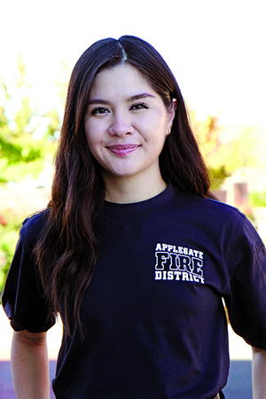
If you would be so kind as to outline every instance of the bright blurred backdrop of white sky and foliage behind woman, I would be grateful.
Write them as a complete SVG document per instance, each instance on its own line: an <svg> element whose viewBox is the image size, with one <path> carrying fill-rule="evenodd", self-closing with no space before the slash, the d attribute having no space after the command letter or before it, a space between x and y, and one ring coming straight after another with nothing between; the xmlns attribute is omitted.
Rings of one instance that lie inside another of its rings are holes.
<svg viewBox="0 0 266 399"><path fill-rule="evenodd" d="M0 1L0 293L20 223L46 206L74 63L96 40L137 35L183 92L220 200L266 239L263 0Z"/></svg>

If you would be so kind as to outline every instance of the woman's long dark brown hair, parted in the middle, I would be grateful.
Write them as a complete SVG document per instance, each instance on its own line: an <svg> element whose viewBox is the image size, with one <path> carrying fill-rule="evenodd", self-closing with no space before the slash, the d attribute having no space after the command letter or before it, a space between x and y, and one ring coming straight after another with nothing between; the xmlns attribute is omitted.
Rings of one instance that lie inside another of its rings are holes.
<svg viewBox="0 0 266 399"><path fill-rule="evenodd" d="M90 154L84 118L95 76L100 70L135 66L169 109L176 98L171 134L160 153L162 178L185 192L212 197L209 177L192 133L181 91L164 59L135 36L94 43L82 54L70 78L59 139L49 216L35 255L51 312L59 311L65 331L80 327L80 309L98 258L96 226L102 217L105 184Z"/></svg>

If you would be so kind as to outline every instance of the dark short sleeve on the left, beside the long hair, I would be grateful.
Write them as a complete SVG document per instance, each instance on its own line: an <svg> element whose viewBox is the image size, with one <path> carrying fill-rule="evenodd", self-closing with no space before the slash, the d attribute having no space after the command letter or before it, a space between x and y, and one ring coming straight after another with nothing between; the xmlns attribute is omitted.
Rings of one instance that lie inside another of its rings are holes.
<svg viewBox="0 0 266 399"><path fill-rule="evenodd" d="M30 242L36 229L30 225L35 223L28 226L26 222L21 228L4 286L3 308L15 331L46 332L55 324L55 317L48 318L48 305L31 254Z"/></svg>

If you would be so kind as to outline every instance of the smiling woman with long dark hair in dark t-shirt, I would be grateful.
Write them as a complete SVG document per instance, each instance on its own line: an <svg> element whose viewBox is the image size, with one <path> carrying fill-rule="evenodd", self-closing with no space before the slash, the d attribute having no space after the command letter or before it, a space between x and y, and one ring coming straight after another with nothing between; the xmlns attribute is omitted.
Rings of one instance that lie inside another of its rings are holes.
<svg viewBox="0 0 266 399"><path fill-rule="evenodd" d="M51 201L27 219L4 290L19 398L223 397L233 329L266 395L265 248L212 199L173 74L144 41L93 44L69 83ZM36 267L35 267L36 265Z"/></svg>

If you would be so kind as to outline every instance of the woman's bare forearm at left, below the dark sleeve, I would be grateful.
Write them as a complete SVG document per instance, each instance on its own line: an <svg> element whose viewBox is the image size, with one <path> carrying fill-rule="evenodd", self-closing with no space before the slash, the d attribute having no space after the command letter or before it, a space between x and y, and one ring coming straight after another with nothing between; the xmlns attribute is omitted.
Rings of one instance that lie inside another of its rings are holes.
<svg viewBox="0 0 266 399"><path fill-rule="evenodd" d="M11 365L18 399L50 398L46 332L14 332Z"/></svg>

